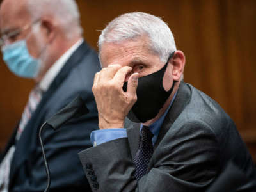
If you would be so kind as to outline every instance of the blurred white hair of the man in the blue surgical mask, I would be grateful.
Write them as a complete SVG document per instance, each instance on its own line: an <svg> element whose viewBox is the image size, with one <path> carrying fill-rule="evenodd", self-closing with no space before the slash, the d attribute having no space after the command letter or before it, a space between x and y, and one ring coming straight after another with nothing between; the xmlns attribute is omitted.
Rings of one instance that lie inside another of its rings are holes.
<svg viewBox="0 0 256 192"><path fill-rule="evenodd" d="M40 19L43 15L51 15L58 20L67 38L82 35L80 14L74 0L27 0L26 4L31 19Z"/></svg>

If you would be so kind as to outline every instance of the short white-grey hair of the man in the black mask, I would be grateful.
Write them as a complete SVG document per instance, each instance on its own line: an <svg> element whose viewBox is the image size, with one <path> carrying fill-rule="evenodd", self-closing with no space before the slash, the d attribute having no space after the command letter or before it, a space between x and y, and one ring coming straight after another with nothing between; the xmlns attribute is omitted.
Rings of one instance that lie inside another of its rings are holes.
<svg viewBox="0 0 256 192"><path fill-rule="evenodd" d="M148 35L150 50L166 62L176 45L172 31L160 17L143 12L125 13L109 22L99 36L99 58L101 45L104 42L122 42Z"/></svg>

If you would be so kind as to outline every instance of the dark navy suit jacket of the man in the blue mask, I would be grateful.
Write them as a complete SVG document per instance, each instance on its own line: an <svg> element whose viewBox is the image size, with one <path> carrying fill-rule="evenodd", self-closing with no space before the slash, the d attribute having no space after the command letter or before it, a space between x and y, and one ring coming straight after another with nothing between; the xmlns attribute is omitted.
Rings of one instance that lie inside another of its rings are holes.
<svg viewBox="0 0 256 192"><path fill-rule="evenodd" d="M51 171L51 191L91 191L81 170L77 152L92 146L90 132L98 125L92 85L94 74L99 70L97 53L84 42L44 93L20 140L15 143L16 150L10 170L10 192L44 191L47 180L38 130L45 120L77 95L83 98L90 113L70 120L60 131L45 129L42 139ZM15 133L4 153L14 142Z"/></svg>

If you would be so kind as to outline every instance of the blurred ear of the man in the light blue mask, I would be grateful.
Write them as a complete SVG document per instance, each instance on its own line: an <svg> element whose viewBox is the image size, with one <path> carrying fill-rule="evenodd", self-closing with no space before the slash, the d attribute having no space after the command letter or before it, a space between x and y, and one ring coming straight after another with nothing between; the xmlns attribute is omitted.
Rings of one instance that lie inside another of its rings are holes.
<svg viewBox="0 0 256 192"><path fill-rule="evenodd" d="M54 25L54 20L51 17L43 17L41 19L41 26L47 42L51 43L57 33L56 26Z"/></svg>

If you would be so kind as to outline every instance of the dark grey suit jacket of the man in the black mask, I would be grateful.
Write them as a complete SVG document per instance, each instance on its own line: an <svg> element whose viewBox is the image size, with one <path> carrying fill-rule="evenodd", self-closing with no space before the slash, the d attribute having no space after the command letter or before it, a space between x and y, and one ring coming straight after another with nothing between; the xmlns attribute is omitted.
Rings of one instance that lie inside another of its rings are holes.
<svg viewBox="0 0 256 192"><path fill-rule="evenodd" d="M231 118L193 86L180 83L168 111L148 172L137 182L132 158L140 142L140 124L127 124L120 138L79 153L93 191L205 191L230 158L250 182L239 191L256 188L252 158Z"/></svg>

